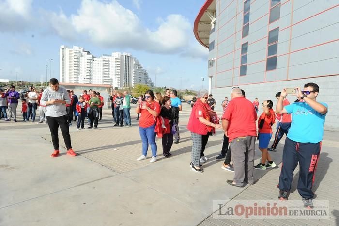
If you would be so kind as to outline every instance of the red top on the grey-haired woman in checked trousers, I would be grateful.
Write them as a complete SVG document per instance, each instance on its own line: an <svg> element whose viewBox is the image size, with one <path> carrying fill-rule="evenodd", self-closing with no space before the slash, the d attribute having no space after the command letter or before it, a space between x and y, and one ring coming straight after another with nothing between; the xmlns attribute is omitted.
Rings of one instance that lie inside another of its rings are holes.
<svg viewBox="0 0 339 226"><path fill-rule="evenodd" d="M193 105L191 115L189 116L188 124L187 124L187 129L191 132L198 133L200 135L206 135L208 131L212 131L211 127L208 127L207 125L201 123L199 121L200 117L204 117L204 115L209 115L207 106L209 105L205 104L205 107L203 107L197 100L197 103ZM209 119L207 119L209 120Z"/></svg>

